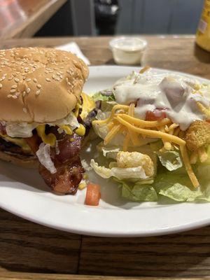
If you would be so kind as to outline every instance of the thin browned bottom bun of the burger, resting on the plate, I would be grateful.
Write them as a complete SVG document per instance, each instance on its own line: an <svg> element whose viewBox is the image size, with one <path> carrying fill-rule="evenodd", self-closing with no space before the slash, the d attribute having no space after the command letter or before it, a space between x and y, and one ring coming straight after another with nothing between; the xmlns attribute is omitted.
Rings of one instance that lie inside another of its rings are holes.
<svg viewBox="0 0 210 280"><path fill-rule="evenodd" d="M35 156L18 155L0 151L0 160L11 162L13 165L18 165L20 167L38 168L38 160Z"/></svg>

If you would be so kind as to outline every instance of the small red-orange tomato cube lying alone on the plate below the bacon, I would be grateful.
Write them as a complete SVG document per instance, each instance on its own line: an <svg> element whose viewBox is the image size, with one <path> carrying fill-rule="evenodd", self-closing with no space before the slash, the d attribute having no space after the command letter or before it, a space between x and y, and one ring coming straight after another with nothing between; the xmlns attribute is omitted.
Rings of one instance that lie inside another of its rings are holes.
<svg viewBox="0 0 210 280"><path fill-rule="evenodd" d="M85 204L90 206L98 206L100 198L100 186L94 183L89 183L87 185Z"/></svg>

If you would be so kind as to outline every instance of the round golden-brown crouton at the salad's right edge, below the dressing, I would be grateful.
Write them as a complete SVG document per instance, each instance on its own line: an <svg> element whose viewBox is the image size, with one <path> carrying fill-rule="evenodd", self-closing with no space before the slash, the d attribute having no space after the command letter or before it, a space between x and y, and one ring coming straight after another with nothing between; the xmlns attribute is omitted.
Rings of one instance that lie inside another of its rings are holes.
<svg viewBox="0 0 210 280"><path fill-rule="evenodd" d="M188 128L185 140L190 151L197 151L198 148L210 144L210 123L195 120Z"/></svg>

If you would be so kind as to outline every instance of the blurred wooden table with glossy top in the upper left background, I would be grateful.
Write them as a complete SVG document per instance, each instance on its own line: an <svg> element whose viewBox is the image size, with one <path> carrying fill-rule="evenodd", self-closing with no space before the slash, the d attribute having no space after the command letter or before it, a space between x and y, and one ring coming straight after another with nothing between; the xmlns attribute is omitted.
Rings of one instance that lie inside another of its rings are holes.
<svg viewBox="0 0 210 280"><path fill-rule="evenodd" d="M1 0L0 38L33 36L66 0Z"/></svg>

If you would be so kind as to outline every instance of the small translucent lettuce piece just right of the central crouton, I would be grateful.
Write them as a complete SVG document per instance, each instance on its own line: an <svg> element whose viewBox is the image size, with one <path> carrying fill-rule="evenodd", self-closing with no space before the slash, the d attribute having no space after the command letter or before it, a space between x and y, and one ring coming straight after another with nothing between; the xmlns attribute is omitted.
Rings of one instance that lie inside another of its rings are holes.
<svg viewBox="0 0 210 280"><path fill-rule="evenodd" d="M165 151L165 152L156 152L158 158L162 165L166 167L169 171L176 170L182 167L181 157L179 152L176 151Z"/></svg>

